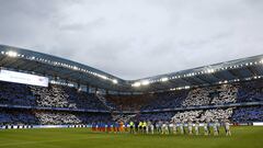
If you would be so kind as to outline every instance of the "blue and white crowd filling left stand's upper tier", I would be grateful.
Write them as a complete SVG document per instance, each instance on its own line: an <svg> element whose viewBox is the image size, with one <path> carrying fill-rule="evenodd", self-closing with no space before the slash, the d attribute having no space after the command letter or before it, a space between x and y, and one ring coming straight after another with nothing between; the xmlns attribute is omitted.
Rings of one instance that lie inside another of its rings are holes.
<svg viewBox="0 0 263 148"><path fill-rule="evenodd" d="M0 81L0 104L106 110L95 96L75 88L53 86L48 88Z"/></svg>

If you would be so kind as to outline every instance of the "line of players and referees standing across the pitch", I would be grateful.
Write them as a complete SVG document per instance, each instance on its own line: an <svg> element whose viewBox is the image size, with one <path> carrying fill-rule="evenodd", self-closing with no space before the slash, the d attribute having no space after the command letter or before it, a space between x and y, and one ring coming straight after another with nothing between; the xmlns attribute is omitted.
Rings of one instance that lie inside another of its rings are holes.
<svg viewBox="0 0 263 148"><path fill-rule="evenodd" d="M151 123L150 121L148 122L133 122L130 121L129 123L99 123L92 124L92 130L93 132L106 132L106 133L130 133L130 134L188 134L188 135L201 135L201 127L204 128L204 135L211 135L211 129L213 129L213 135L218 136L219 135L219 128L220 127L225 128L225 133L227 136L231 136L230 132L230 122L228 119L219 123L216 121L215 123L208 123L205 122L203 124L196 122L193 124L192 122L188 123L175 123L175 122L155 122Z"/></svg>

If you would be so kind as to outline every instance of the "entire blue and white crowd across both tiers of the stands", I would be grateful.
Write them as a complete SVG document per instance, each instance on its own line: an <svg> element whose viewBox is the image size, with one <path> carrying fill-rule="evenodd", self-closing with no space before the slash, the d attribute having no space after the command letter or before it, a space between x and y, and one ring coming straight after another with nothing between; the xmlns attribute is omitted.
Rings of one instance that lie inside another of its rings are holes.
<svg viewBox="0 0 263 148"><path fill-rule="evenodd" d="M141 98L140 98L141 96ZM144 95L107 95L107 102L117 111L152 111L161 109L190 107L203 105L229 104L236 102L262 102L262 81L238 84L220 84L173 92ZM64 109L85 109L108 111L95 94L80 92L75 88L54 86L48 88L18 83L0 82L0 104L21 106L45 106ZM184 123L215 122L230 119L236 123L263 122L263 107L226 107L196 109L187 111L145 112L129 115L111 115L110 113L80 113L60 111L15 111L0 110L1 124L90 124L93 122L112 122L139 119Z"/></svg>

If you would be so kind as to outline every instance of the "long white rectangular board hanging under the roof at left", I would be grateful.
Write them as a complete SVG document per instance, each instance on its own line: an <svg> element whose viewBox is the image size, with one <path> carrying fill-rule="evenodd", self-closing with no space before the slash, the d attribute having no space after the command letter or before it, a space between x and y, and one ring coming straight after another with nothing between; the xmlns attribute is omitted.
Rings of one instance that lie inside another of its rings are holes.
<svg viewBox="0 0 263 148"><path fill-rule="evenodd" d="M0 70L0 81L16 82L39 87L48 87L48 78L36 75L15 72L10 70Z"/></svg>

